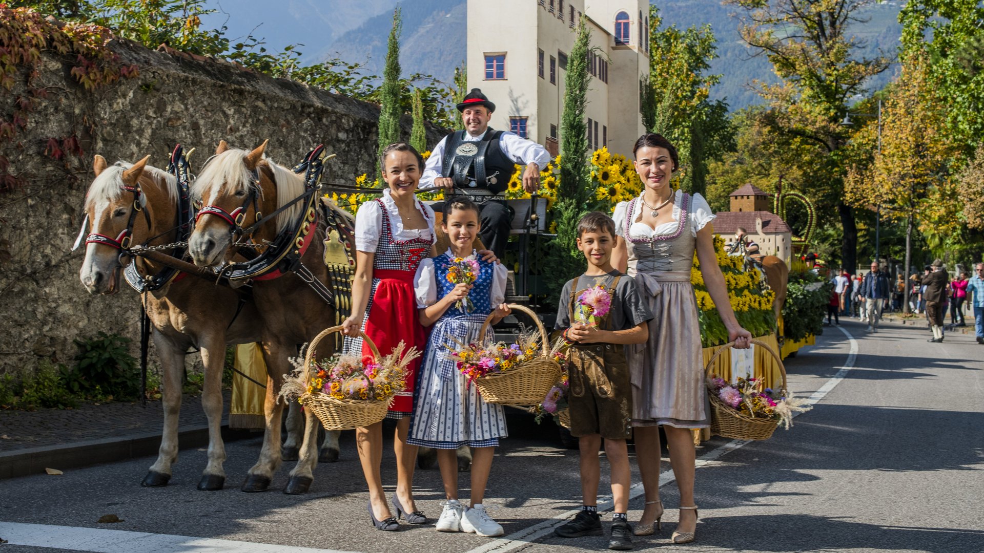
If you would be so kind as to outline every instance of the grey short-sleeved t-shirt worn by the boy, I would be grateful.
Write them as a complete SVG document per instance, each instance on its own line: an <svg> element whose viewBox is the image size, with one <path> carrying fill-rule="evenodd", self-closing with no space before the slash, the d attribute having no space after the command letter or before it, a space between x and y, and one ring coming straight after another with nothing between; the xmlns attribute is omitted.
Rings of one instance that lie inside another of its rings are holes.
<svg viewBox="0 0 984 553"><path fill-rule="evenodd" d="M619 275L621 273L618 271L612 271L606 275L579 276L576 278L578 281L578 293L575 295L575 302L578 301L577 296L581 295L581 292L591 286L602 284L610 290L612 282ZM571 286L574 285L574 281L575 279L568 280L564 284L564 289L561 291L560 305L557 308L556 329L566 329L572 324L569 308L571 305ZM598 328L612 331L625 331L652 319L652 312L649 311L649 306L643 301L643 296L639 293L639 285L636 284L636 280L633 277L622 275L619 278L618 284L615 286L615 292L612 294L611 310L605 317L609 319L611 326L607 327L606 322L601 321L598 324Z"/></svg>

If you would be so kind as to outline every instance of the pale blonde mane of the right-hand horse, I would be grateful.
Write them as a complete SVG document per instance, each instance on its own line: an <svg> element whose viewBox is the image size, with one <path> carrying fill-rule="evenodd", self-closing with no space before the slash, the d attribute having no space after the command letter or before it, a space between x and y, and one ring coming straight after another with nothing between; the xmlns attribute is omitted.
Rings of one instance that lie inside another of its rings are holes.
<svg viewBox="0 0 984 553"><path fill-rule="evenodd" d="M192 185L193 195L205 199L213 187L226 184L229 192L237 190L248 192L250 187L255 187L259 197L263 198L263 190L257 183L253 183L250 170L246 168L248 154L249 151L235 148L215 154L206 162L202 173L195 179L195 184ZM274 183L277 185L277 209L304 193L304 180L299 175L278 165L269 157L264 156L264 160L274 172ZM302 207L303 202L297 202L280 212L280 215L277 215L277 232L295 221L301 215Z"/></svg>

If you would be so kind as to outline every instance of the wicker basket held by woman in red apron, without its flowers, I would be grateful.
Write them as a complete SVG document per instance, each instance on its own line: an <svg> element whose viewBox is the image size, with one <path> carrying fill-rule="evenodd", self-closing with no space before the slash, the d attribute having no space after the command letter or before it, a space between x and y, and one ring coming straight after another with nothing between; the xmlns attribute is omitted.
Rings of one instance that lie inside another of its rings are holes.
<svg viewBox="0 0 984 553"><path fill-rule="evenodd" d="M311 364L314 363L315 351L318 350L318 342L323 338L337 333L341 327L325 329L318 336L311 340L304 355L304 370L311 372ZM362 339L369 345L373 357L379 362L382 356L379 349L372 339L365 333L359 331ZM387 401L378 399L335 399L321 392L313 392L301 396L304 408L311 409L311 412L321 420L325 430L350 430L363 426L371 426L386 418L386 411L390 408L393 398Z"/></svg>

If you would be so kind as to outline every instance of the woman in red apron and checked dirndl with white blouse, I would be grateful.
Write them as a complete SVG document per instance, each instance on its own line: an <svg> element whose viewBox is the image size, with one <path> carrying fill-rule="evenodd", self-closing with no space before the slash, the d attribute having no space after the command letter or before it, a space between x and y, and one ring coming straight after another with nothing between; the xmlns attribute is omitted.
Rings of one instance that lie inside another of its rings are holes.
<svg viewBox="0 0 984 553"><path fill-rule="evenodd" d="M345 351L370 355L359 338L361 329L383 355L400 341L422 351L427 343L417 314L413 276L420 260L434 255L434 212L414 194L423 171L423 159L412 147L398 143L383 154L383 178L389 185L383 197L363 204L355 217L355 279L352 282L352 316L342 323ZM381 530L400 528L397 519L422 524L426 518L413 502L413 466L417 447L406 443L413 408L413 385L419 358L407 367L406 390L397 395L387 418L396 418L394 451L397 454L397 492L390 511L383 491L380 462L383 458L382 422L356 429L362 472L369 486L369 515Z"/></svg>

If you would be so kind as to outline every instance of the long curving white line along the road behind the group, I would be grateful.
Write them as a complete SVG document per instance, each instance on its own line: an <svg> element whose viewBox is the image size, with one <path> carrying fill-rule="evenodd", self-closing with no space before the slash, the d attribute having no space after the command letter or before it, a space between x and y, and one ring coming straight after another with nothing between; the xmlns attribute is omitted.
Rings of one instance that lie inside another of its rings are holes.
<svg viewBox="0 0 984 553"><path fill-rule="evenodd" d="M837 327L837 330L844 333L844 336L847 337L850 343L850 350L847 353L847 360L844 362L843 366L840 367L840 370L838 370L837 373L833 375L830 378L830 380L827 381L824 384L824 386L820 388L820 390L818 390L812 396L810 396L808 401L810 402L811 405L827 397L827 395L830 394L830 391L836 388L836 386L840 384L841 381L844 380L844 377L847 375L847 373L852 368L854 368L854 360L857 358L857 353L858 353L858 342L843 327ZM797 416L799 414L800 414L799 412L795 412L793 413L793 416ZM701 468L702 466L709 466L717 462L720 462L717 461L719 458L749 443L750 443L749 440L732 440L718 448L715 448L707 452L707 454L701 456L696 462L697 467ZM673 474L672 469L664 470L659 474L660 487L665 486L666 484L669 484L670 482L673 482L675 480L676 480L676 476ZM631 501L633 499L636 499L637 497L642 496L644 493L645 493L645 489L643 488L643 483L637 482L633 484L631 488L629 488L629 500ZM601 499L601 497L599 496L598 499ZM614 505L612 504L610 498L605 502L598 503L598 511L608 511L613 507ZM578 514L578 511L580 510L575 509L572 511L568 511L566 513L562 513L554 519L550 519L549 521L544 521L538 524L534 524L532 526L523 528L518 532L511 533L501 538L496 538L494 541L490 541L485 545L475 547L474 549L471 549L465 553L491 553L491 552L504 553L506 551L512 551L520 547L525 547L529 545L530 542L536 541L537 539L545 535L549 535L553 533L554 528L563 524L564 522L568 522L571 519L573 519L574 516Z"/></svg>

